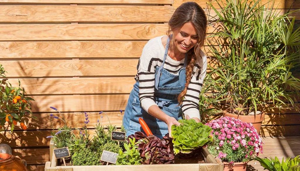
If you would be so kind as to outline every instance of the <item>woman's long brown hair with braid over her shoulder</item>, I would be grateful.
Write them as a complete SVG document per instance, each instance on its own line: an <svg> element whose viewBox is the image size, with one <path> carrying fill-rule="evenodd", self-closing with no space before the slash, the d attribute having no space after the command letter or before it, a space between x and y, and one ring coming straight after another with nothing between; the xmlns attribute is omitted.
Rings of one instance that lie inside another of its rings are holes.
<svg viewBox="0 0 300 171"><path fill-rule="evenodd" d="M198 34L198 42L190 49L188 53L186 66L186 84L184 90L178 96L179 105L182 104L183 97L187 93L187 86L190 84L195 61L201 58L201 47L204 45L206 36L207 19L204 10L196 2L185 2L181 4L173 13L169 20L169 30L167 35L170 37L172 31L176 31L187 22L191 22L196 28Z"/></svg>

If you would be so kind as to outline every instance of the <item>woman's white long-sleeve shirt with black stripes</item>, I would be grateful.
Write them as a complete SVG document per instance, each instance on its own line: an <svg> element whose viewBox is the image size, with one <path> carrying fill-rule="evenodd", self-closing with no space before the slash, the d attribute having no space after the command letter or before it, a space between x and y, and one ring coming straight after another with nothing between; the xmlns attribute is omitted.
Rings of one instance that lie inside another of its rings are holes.
<svg viewBox="0 0 300 171"><path fill-rule="evenodd" d="M137 65L135 79L139 81L139 97L141 106L145 111L148 111L150 106L157 105L154 101L155 67L161 66L164 60L165 48L161 42L162 37L155 37L146 43ZM188 115L190 118L197 117L199 119L199 94L207 67L206 56L202 51L201 53L202 57L195 62L192 78L181 106L184 116ZM176 75L179 74L179 70L183 68L183 65L184 59L176 61L167 55L164 69Z"/></svg>

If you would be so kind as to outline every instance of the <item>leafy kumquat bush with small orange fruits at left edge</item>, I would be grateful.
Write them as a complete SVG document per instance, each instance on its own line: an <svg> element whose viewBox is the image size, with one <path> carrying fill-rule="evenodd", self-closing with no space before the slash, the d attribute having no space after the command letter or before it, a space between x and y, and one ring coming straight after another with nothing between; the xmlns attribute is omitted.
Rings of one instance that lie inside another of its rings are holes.
<svg viewBox="0 0 300 171"><path fill-rule="evenodd" d="M11 133L10 131L14 130L18 122L21 128L26 130L29 119L37 119L32 116L31 112L30 101L34 101L34 99L25 95L24 88L20 88L20 81L18 87L13 87L7 81L5 72L0 64L0 76L3 78L0 81L0 132L7 131Z"/></svg>

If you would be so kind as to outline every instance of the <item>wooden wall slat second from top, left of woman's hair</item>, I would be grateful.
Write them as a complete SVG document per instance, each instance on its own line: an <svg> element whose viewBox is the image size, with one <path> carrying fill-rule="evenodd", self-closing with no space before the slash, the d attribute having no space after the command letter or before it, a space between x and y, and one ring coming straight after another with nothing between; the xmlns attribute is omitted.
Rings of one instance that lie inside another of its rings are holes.
<svg viewBox="0 0 300 171"><path fill-rule="evenodd" d="M172 14L172 6L0 6L0 22L168 22Z"/></svg>

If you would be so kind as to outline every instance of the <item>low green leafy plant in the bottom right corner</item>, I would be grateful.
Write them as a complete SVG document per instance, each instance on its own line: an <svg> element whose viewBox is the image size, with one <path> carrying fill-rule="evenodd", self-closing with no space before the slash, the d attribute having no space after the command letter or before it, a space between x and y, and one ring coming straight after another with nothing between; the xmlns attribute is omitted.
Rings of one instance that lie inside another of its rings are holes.
<svg viewBox="0 0 300 171"><path fill-rule="evenodd" d="M259 161L260 165L269 171L300 171L300 156L291 159L288 157L285 161L282 159L281 163L277 157L260 158L254 157L253 160Z"/></svg>

